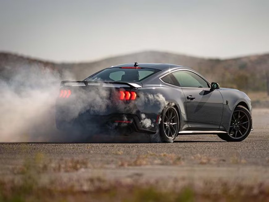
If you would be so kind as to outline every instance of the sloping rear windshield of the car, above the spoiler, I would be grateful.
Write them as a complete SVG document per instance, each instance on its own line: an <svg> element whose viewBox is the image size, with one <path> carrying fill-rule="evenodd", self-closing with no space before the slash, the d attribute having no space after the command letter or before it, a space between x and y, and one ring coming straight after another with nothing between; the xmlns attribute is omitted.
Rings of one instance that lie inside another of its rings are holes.
<svg viewBox="0 0 269 202"><path fill-rule="evenodd" d="M160 70L151 68L108 68L94 74L86 79L86 81L141 81Z"/></svg>

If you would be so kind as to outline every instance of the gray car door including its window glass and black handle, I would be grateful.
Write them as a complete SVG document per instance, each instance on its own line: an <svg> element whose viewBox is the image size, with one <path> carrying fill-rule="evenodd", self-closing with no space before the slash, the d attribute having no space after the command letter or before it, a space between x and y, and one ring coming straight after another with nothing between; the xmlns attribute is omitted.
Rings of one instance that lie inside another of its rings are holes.
<svg viewBox="0 0 269 202"><path fill-rule="evenodd" d="M186 97L187 122L191 129L219 129L223 98L218 89L211 90L209 83L189 70L172 73Z"/></svg>

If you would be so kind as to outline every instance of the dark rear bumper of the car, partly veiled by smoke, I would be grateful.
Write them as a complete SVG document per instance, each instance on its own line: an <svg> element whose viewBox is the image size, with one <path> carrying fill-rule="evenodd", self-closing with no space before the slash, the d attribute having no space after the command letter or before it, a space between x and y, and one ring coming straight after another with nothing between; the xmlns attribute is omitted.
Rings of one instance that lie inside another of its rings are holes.
<svg viewBox="0 0 269 202"><path fill-rule="evenodd" d="M156 133L158 127L154 122L153 117L157 114L147 114L147 117L152 117L152 123L154 127L143 127L141 120L137 114L122 114L114 113L109 115L91 115L88 113L80 114L77 118L72 120L65 120L61 114L56 113L56 127L58 130L71 131L81 130L83 132L92 133L108 133L108 132L121 132L130 134L133 132L139 133Z"/></svg>

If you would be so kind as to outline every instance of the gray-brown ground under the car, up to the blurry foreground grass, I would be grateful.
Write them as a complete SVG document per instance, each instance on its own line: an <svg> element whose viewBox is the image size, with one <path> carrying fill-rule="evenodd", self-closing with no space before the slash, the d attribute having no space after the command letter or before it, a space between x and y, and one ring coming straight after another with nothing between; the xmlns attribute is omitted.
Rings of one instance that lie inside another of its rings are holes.
<svg viewBox="0 0 269 202"><path fill-rule="evenodd" d="M182 135L173 144L2 143L0 177L5 186L30 176L38 186L76 191L111 182L170 191L190 184L218 191L220 183L269 191L269 109L254 109L252 116L254 131L238 143L216 135Z"/></svg>

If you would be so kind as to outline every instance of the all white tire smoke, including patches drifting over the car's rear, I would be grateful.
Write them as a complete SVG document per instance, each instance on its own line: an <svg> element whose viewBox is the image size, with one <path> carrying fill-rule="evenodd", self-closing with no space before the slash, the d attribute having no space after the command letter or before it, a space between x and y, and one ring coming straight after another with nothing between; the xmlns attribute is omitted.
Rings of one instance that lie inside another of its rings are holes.
<svg viewBox="0 0 269 202"><path fill-rule="evenodd" d="M70 72L59 73L41 65L25 65L16 69L16 72L12 72L12 68L7 72L5 76L0 75L0 141L68 141L64 138L71 140L76 137L58 131L55 124L55 101L59 95L59 84L61 80L75 80ZM123 105L122 101L117 99L111 101L111 91L101 87L76 93L79 99L62 115L69 120L85 111L102 115L109 108L119 112L135 112L134 103ZM136 105L144 106L146 103L152 110L155 108L155 112L156 109L161 111L167 105L165 98L159 93L140 94ZM143 127L154 126L154 120L150 120L145 114L141 116ZM123 117L123 120L125 119L127 118ZM116 126L117 123L112 123L110 127L114 129ZM96 126L91 129L99 130Z"/></svg>

